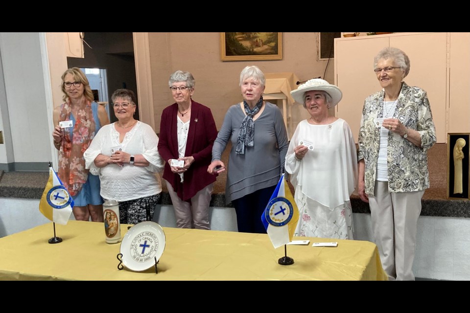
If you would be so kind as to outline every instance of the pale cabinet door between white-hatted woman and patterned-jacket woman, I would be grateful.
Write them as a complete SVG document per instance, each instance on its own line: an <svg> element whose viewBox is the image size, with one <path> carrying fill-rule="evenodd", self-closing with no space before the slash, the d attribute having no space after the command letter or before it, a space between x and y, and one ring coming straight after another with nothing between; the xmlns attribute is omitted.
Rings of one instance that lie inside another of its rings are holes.
<svg viewBox="0 0 470 313"><path fill-rule="evenodd" d="M388 37L335 40L335 85L343 92L336 116L348 122L356 143L364 100L381 89L374 73L374 57L387 46Z"/></svg>

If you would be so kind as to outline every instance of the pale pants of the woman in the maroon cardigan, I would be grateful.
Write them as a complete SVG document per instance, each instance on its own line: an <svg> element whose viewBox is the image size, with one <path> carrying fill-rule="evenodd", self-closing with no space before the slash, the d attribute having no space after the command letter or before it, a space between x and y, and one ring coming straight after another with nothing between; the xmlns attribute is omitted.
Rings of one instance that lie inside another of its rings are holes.
<svg viewBox="0 0 470 313"><path fill-rule="evenodd" d="M166 181L166 188L170 194L171 202L175 209L176 227L178 228L209 228L209 205L211 203L214 184L211 183L199 190L190 202L183 201L173 190L171 184ZM194 224L194 225L193 225Z"/></svg>

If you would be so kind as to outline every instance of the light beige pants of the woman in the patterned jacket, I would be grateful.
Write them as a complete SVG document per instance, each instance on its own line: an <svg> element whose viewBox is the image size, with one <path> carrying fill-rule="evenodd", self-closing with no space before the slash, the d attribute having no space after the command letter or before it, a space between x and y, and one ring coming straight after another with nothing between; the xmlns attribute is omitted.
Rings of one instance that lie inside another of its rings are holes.
<svg viewBox="0 0 470 313"><path fill-rule="evenodd" d="M414 280L416 231L424 191L388 192L388 181L377 181L369 195L372 230L382 267L389 280Z"/></svg>

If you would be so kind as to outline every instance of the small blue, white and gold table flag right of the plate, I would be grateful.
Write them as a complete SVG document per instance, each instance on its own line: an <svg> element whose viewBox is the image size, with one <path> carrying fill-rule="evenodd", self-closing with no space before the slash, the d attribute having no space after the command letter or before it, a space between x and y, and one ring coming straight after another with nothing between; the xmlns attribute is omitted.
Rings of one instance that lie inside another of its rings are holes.
<svg viewBox="0 0 470 313"><path fill-rule="evenodd" d="M282 174L282 178L269 199L263 215L261 215L261 222L275 248L292 241L297 221L299 221L299 209L284 175Z"/></svg>

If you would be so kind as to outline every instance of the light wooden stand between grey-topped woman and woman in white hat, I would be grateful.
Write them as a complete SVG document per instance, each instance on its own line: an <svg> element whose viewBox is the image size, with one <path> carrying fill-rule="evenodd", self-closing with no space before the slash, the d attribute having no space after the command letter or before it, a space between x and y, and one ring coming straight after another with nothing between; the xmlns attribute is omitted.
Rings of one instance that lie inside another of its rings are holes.
<svg viewBox="0 0 470 313"><path fill-rule="evenodd" d="M267 73L266 88L264 89L264 100L282 100L282 118L284 119L285 129L287 130L287 138L290 140L290 132L292 131L292 105L294 98L291 97L290 91L297 89L299 79L294 73ZM287 105L288 104L288 105Z"/></svg>

